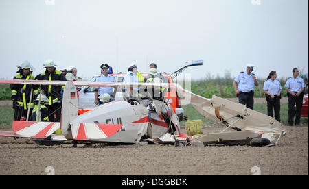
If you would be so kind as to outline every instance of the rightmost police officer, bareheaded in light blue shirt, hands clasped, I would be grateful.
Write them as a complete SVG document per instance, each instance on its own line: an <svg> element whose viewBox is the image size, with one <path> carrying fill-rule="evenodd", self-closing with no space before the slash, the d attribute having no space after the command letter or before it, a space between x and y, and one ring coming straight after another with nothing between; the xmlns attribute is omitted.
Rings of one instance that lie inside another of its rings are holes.
<svg viewBox="0 0 309 189"><path fill-rule="evenodd" d="M293 126L293 119L295 116L295 125L299 125L301 116L301 107L304 97L305 84L304 79L298 77L299 71L297 68L293 69L293 77L286 81L286 90L288 91L288 125ZM296 112L295 106L296 104Z"/></svg>

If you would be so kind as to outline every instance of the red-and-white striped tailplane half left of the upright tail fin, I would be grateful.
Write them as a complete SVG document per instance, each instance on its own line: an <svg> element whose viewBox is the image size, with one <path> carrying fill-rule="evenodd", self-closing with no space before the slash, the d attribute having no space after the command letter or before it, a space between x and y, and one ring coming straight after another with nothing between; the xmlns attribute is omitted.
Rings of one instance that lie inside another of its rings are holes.
<svg viewBox="0 0 309 189"><path fill-rule="evenodd" d="M13 131L17 136L47 138L60 129L58 122L13 121Z"/></svg>

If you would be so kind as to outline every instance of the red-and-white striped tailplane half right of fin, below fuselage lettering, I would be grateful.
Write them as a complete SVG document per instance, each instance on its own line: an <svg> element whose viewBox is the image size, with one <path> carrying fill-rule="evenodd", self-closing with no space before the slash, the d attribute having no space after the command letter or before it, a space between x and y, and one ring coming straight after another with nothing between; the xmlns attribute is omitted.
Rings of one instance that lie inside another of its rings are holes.
<svg viewBox="0 0 309 189"><path fill-rule="evenodd" d="M74 140L98 140L116 134L122 125L100 123L78 123L72 127Z"/></svg>

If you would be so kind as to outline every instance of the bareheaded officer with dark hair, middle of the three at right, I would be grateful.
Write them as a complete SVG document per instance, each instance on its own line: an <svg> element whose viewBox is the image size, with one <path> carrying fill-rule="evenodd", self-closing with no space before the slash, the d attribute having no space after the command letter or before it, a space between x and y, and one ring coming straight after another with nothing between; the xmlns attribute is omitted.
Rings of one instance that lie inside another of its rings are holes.
<svg viewBox="0 0 309 189"><path fill-rule="evenodd" d="M280 121L280 99L282 87L280 81L277 80L277 73L271 71L264 82L263 90L265 92L267 101L268 116L273 117L273 110L275 110L275 119Z"/></svg>

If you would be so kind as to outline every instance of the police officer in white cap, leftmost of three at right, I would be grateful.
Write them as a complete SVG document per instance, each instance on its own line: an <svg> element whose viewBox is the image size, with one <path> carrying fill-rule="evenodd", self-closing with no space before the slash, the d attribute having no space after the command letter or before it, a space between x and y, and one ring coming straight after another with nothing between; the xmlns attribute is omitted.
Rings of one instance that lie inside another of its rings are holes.
<svg viewBox="0 0 309 189"><path fill-rule="evenodd" d="M233 82L239 103L244 104L247 108L251 109L253 109L254 103L254 86L259 85L255 74L252 73L253 67L254 66L252 64L247 64L246 71L240 72L238 77L236 77Z"/></svg>

